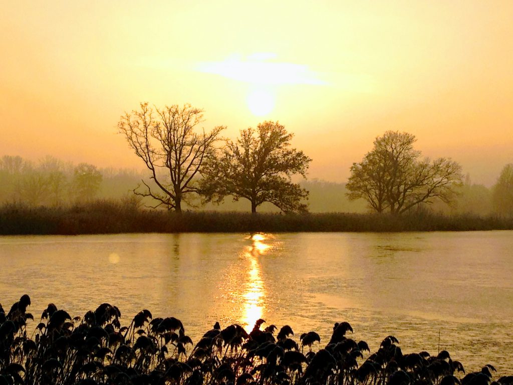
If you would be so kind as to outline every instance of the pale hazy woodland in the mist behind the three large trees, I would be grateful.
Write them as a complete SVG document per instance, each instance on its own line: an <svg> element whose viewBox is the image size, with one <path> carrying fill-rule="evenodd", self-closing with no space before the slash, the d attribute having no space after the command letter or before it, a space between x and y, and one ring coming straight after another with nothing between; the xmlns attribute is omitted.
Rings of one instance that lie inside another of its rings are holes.
<svg viewBox="0 0 513 385"><path fill-rule="evenodd" d="M30 207L67 207L96 200L117 201L127 206L152 206L149 198L133 195L133 189L147 177L146 171L127 168L101 168L81 163L74 165L54 157L31 162L18 156L0 158L0 205L16 204ZM309 191L308 209L311 213L366 213L364 200L350 201L345 183L319 179L299 182ZM427 208L446 215L504 215L501 204L494 202L496 186L488 188L474 184L467 175L462 186L455 187L457 197L451 206L435 202ZM497 199L495 199L497 201ZM246 201L225 199L221 205L200 201L185 204L185 210L248 211ZM278 208L264 203L264 213L277 213Z"/></svg>

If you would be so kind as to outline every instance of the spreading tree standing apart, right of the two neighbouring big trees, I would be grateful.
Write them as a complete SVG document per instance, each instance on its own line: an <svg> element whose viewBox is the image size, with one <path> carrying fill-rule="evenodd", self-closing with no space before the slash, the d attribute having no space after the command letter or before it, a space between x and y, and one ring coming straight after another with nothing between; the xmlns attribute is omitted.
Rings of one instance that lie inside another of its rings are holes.
<svg viewBox="0 0 513 385"><path fill-rule="evenodd" d="M461 166L451 159L419 159L415 136L387 131L360 163L353 163L346 185L350 199L365 199L378 213L401 214L438 198L449 203L461 184Z"/></svg>

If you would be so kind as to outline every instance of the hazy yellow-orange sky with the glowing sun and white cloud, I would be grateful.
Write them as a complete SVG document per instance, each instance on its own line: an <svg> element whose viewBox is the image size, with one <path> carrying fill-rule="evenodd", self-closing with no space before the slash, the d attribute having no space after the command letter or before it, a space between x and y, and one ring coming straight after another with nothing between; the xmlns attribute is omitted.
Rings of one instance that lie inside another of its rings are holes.
<svg viewBox="0 0 513 385"><path fill-rule="evenodd" d="M279 120L346 181L386 130L491 185L513 162L513 1L16 1L0 17L0 156L143 167L147 101L208 130Z"/></svg>

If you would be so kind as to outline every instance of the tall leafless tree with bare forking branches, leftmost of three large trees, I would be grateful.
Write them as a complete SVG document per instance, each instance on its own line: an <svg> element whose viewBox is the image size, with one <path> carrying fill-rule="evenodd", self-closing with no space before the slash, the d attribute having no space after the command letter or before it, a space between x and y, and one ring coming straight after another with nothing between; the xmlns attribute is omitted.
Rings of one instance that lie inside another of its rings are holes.
<svg viewBox="0 0 513 385"><path fill-rule="evenodd" d="M155 115L148 103L141 103L141 110L121 117L117 125L119 132L151 171L150 179L157 189L142 180L145 190L135 189L135 194L159 201L155 207L165 205L182 211L181 204L187 202L187 195L198 192L195 177L212 155L213 144L225 128L214 127L209 133L194 132L202 121L203 110L190 104L156 109Z"/></svg>

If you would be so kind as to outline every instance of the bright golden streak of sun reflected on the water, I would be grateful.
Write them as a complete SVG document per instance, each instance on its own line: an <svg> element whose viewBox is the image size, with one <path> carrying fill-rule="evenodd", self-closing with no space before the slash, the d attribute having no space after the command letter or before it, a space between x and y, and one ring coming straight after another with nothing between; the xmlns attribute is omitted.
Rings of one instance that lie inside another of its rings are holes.
<svg viewBox="0 0 513 385"><path fill-rule="evenodd" d="M263 234L254 234L250 239L251 245L246 247L243 254L250 262L247 281L244 287L244 314L242 316L242 326L247 331L251 330L255 321L262 318L266 291L264 281L262 280L259 257L271 247L265 243L267 238Z"/></svg>

